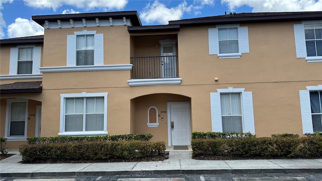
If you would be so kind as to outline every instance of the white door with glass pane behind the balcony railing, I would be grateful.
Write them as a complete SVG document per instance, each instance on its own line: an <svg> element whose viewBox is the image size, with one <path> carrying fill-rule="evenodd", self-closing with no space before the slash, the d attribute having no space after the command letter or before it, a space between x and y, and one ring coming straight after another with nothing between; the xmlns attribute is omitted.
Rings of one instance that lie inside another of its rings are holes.
<svg viewBox="0 0 322 181"><path fill-rule="evenodd" d="M162 57L162 78L177 77L177 56L176 56L177 40L162 40L161 56Z"/></svg>

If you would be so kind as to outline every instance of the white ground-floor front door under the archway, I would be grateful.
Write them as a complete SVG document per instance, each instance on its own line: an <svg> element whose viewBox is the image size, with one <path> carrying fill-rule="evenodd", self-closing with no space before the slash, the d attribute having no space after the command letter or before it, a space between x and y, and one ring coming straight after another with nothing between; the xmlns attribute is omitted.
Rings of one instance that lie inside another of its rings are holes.
<svg viewBox="0 0 322 181"><path fill-rule="evenodd" d="M191 144L189 102L168 103L168 135L169 145Z"/></svg>

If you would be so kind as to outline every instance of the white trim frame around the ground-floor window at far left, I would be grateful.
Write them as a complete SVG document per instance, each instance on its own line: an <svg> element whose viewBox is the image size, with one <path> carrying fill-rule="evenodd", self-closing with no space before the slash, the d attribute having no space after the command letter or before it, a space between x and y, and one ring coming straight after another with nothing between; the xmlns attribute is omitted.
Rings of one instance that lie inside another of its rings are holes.
<svg viewBox="0 0 322 181"><path fill-rule="evenodd" d="M26 119L25 119L25 134L24 136L10 136L10 113L11 104L15 102L25 102L26 103ZM26 99L7 99L7 111L6 111L6 129L5 137L8 141L26 141L27 140L27 129L28 129L28 100Z"/></svg>

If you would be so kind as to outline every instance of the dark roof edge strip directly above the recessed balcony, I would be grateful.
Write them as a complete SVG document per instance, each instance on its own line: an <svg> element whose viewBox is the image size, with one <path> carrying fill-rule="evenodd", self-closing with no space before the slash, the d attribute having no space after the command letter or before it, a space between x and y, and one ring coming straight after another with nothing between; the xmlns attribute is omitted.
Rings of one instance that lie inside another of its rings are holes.
<svg viewBox="0 0 322 181"><path fill-rule="evenodd" d="M129 33L154 33L179 31L179 25L152 25L152 26L131 26L127 27Z"/></svg>

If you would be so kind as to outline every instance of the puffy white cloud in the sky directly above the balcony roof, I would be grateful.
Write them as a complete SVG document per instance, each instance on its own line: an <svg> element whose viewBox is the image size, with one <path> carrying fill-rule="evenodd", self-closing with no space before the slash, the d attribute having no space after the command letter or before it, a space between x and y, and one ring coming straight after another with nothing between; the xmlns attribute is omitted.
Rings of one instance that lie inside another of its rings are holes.
<svg viewBox="0 0 322 181"><path fill-rule="evenodd" d="M168 24L170 20L179 20L185 12L190 12L192 8L193 6L188 6L185 1L173 8L167 8L166 5L154 1L141 11L140 18L147 24L153 22Z"/></svg>

